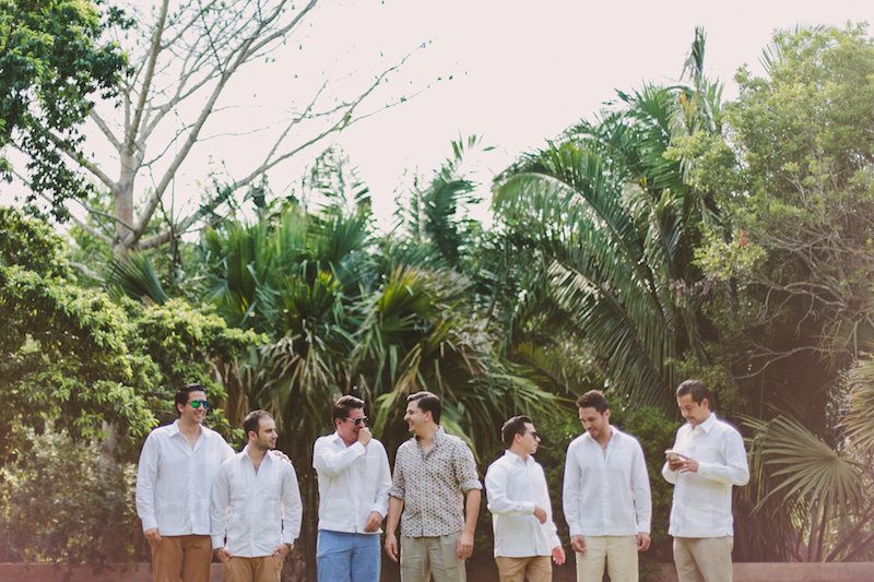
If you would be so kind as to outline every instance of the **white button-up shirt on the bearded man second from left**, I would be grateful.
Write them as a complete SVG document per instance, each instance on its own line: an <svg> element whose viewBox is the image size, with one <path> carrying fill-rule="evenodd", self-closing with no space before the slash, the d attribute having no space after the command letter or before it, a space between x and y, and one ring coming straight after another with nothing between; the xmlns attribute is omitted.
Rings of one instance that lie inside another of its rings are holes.
<svg viewBox="0 0 874 582"><path fill-rule="evenodd" d="M294 545L303 514L294 466L268 453L256 473L247 446L222 463L215 478L212 547L244 558L270 556L282 544Z"/></svg>

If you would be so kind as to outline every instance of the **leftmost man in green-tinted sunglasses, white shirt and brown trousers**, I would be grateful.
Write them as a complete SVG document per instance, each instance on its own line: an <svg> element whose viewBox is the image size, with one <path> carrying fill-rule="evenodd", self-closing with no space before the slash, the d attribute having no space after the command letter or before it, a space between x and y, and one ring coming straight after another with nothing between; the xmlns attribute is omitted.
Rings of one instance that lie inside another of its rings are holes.
<svg viewBox="0 0 874 582"><path fill-rule="evenodd" d="M180 388L179 418L145 439L137 471L137 513L152 549L154 582L209 582L210 490L234 450L203 426L206 390Z"/></svg>

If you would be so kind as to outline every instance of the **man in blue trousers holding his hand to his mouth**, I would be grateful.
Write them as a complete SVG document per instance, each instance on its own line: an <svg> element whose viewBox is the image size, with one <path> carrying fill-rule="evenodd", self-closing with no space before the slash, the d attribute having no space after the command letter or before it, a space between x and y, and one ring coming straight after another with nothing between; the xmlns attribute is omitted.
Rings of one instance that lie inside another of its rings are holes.
<svg viewBox="0 0 874 582"><path fill-rule="evenodd" d="M379 580L379 526L389 507L389 459L367 428L364 401L342 396L332 417L335 431L319 437L312 450L319 477L319 582L374 582Z"/></svg>

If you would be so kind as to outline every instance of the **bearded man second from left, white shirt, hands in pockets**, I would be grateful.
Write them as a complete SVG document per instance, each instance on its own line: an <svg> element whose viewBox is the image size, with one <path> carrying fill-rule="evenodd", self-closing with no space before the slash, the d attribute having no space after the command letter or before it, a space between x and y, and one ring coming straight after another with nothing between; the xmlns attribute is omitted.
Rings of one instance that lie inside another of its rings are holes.
<svg viewBox="0 0 874 582"><path fill-rule="evenodd" d="M297 474L268 454L277 437L270 414L250 412L243 428L248 444L222 463L213 485L212 547L227 582L280 582L300 533Z"/></svg>

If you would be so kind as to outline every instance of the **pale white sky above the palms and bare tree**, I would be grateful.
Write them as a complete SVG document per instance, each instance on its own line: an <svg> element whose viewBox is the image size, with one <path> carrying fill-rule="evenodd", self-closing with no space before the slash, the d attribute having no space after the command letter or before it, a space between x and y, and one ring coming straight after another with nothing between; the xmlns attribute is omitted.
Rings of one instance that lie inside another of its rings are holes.
<svg viewBox="0 0 874 582"><path fill-rule="evenodd" d="M440 165L451 140L476 134L492 146L465 158L468 175L487 198L495 174L568 126L592 119L616 90L676 81L696 26L707 34L706 72L725 83L731 98L739 67L761 71L758 59L775 29L848 21L874 21L874 2L324 0L270 62L253 63L229 85L221 111L204 127L209 140L177 175L175 211L197 203L194 193L216 167L238 176L257 165L270 131L326 79L328 92L342 98L411 51L359 111L415 96L277 167L270 176L274 191L296 185L324 147L341 147L369 186L385 229L398 195L414 176L427 178ZM177 123L187 115L180 109ZM98 143L96 127L85 131L88 143ZM94 152L98 159L111 155L99 145ZM9 201L4 190L0 202ZM487 200L473 214L487 223Z"/></svg>

